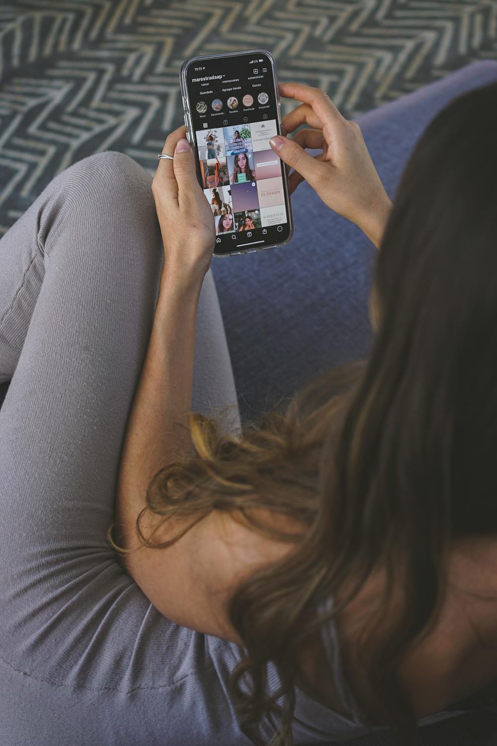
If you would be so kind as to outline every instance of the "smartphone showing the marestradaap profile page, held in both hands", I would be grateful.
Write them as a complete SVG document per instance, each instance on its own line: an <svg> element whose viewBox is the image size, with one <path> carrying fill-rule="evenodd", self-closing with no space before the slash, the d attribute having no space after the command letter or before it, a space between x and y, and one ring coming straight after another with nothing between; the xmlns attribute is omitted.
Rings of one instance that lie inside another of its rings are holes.
<svg viewBox="0 0 497 746"><path fill-rule="evenodd" d="M276 62L266 49L191 57L180 71L186 137L214 215L215 257L285 245L294 233Z"/></svg>

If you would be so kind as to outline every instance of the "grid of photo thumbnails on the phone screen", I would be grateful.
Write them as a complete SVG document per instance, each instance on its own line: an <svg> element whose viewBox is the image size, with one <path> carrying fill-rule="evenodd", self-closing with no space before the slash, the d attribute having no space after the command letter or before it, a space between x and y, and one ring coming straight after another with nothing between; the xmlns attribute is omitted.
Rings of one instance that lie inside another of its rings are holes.
<svg viewBox="0 0 497 746"><path fill-rule="evenodd" d="M269 144L276 119L198 130L203 193L216 234L287 222L281 161Z"/></svg>

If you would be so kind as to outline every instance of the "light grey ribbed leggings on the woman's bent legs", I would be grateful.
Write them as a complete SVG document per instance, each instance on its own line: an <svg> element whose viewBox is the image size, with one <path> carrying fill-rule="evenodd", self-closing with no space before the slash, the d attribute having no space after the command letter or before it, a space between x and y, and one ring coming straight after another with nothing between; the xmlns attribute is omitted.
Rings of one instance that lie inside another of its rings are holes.
<svg viewBox="0 0 497 746"><path fill-rule="evenodd" d="M156 612L105 536L164 257L151 183L127 155L92 155L57 175L0 240L0 380L12 379L0 409L2 744L59 743L56 724L71 729L71 744L110 744L106 721L115 743L131 743L143 707L160 716L168 694L200 683L204 668L220 686L212 651L205 642L205 659L194 651L203 636ZM237 403L211 270L192 399L207 415ZM240 433L238 406L228 416L224 429ZM178 727L188 724L185 713Z"/></svg>

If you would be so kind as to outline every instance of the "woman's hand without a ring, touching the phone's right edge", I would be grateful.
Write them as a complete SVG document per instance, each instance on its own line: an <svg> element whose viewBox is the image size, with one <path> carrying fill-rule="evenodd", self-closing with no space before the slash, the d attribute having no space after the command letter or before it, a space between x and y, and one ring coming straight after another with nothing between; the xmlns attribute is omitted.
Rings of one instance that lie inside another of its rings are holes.
<svg viewBox="0 0 497 746"><path fill-rule="evenodd" d="M280 83L279 93L303 101L283 117L284 131L293 132L304 122L311 128L300 130L294 138L278 135L269 141L279 157L294 169L288 178L290 193L301 181L307 181L328 207L352 220L379 247L392 203L361 128L357 122L345 119L329 95L319 88ZM282 141L280 148L278 140ZM323 152L312 157L304 148L322 148Z"/></svg>

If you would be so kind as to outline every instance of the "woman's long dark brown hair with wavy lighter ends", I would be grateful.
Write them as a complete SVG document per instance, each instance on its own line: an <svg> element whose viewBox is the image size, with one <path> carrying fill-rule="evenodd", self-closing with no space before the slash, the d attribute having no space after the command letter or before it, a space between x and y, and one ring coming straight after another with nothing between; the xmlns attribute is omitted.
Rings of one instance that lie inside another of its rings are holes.
<svg viewBox="0 0 497 746"><path fill-rule="evenodd" d="M358 652L367 698L355 695L397 743L414 745L399 662L439 618L451 542L497 532L496 133L491 84L452 101L417 142L376 258L368 359L320 375L243 437L191 413L192 453L149 486L148 509L164 521L244 513L253 530L288 541L253 521L256 504L305 529L229 602L244 641L232 700L256 745L263 718L279 721L272 745L292 743L295 652L323 621L317 606L340 599L335 618L380 566L387 584L362 620ZM139 519L136 528L148 545ZM271 698L270 661L281 683Z"/></svg>

